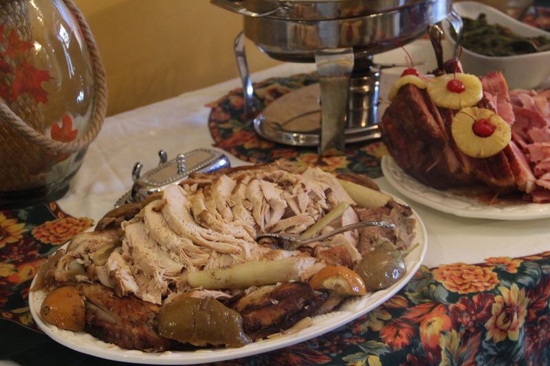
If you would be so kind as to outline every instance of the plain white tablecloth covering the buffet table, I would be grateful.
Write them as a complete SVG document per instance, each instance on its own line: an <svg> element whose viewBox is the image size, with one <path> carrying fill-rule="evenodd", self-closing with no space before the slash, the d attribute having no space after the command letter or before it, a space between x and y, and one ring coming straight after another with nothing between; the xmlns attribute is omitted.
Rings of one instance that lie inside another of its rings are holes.
<svg viewBox="0 0 550 366"><path fill-rule="evenodd" d="M428 41L416 41L407 49L415 62L425 62L418 69L434 69ZM378 55L375 60L404 62L404 52L397 49ZM252 77L261 81L313 69L314 66L309 64L285 64L254 73ZM401 73L401 69L384 70L384 73L395 75ZM383 89L386 84L383 83ZM157 151L161 148L170 158L179 152L211 147L213 141L208 131L210 108L205 104L239 86L239 80L234 79L107 118L100 135L89 147L69 193L59 201L61 208L74 216L87 216L97 222L131 187L130 173L136 161L142 161L144 170L148 170L157 165ZM244 164L232 156L230 161L234 166ZM377 179L377 183L383 190L403 198L384 178ZM428 229L428 254L424 261L427 266L475 263L488 257L516 257L550 250L550 220L459 218L405 201L417 210Z"/></svg>

